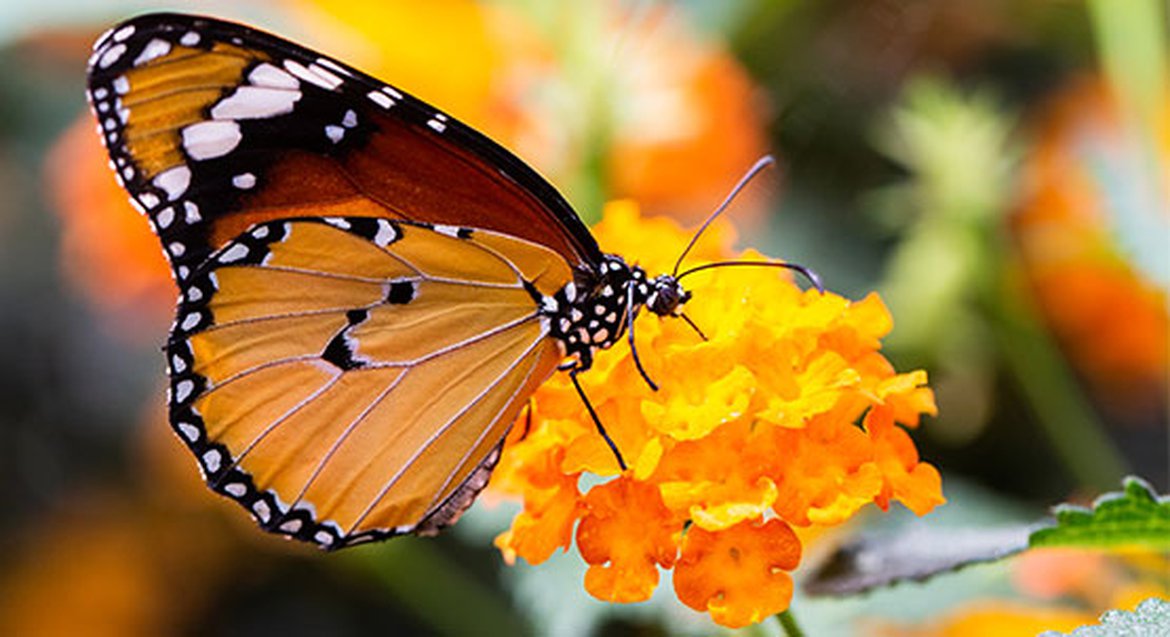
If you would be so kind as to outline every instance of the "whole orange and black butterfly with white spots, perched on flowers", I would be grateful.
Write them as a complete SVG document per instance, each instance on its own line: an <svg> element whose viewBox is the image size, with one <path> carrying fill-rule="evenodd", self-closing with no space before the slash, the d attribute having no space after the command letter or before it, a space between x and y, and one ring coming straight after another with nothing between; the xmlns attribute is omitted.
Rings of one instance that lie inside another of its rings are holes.
<svg viewBox="0 0 1170 637"><path fill-rule="evenodd" d="M275 35L131 19L88 98L179 287L170 424L268 532L336 549L454 523L537 386L689 299L495 142Z"/></svg>

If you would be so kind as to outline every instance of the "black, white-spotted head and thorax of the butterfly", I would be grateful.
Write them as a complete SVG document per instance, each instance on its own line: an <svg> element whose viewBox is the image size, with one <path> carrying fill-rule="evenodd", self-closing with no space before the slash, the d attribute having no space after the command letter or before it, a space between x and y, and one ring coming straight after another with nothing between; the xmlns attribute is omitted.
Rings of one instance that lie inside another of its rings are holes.
<svg viewBox="0 0 1170 637"><path fill-rule="evenodd" d="M649 279L639 266L606 254L596 270L580 273L553 296L545 297L541 314L549 317L550 334L565 356L589 369L593 354L607 349L625 334L629 313L645 307L660 316L674 314L690 294L670 275Z"/></svg>

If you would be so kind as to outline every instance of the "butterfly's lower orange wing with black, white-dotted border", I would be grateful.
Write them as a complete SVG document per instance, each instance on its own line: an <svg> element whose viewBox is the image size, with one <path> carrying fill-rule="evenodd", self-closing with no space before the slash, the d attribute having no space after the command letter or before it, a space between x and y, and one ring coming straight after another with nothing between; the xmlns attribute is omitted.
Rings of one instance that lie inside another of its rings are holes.
<svg viewBox="0 0 1170 637"><path fill-rule="evenodd" d="M268 221L186 287L171 422L208 484L326 548L447 526L562 350L538 314L572 273L489 231Z"/></svg>

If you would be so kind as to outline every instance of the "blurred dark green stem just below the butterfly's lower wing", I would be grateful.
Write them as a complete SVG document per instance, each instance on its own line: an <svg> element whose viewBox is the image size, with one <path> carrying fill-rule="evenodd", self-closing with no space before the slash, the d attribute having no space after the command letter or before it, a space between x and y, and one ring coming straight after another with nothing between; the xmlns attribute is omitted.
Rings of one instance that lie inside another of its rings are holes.
<svg viewBox="0 0 1170 637"><path fill-rule="evenodd" d="M433 540L399 537L346 552L349 568L374 578L434 635L530 635L504 597L475 581Z"/></svg>

